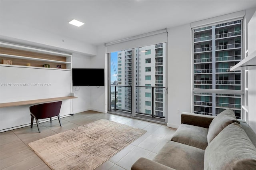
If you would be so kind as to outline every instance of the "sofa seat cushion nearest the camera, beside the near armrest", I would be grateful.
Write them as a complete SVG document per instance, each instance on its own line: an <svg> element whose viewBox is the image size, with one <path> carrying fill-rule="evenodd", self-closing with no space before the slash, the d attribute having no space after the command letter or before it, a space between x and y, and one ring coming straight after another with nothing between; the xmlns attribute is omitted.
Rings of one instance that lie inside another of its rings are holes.
<svg viewBox="0 0 256 170"><path fill-rule="evenodd" d="M154 157L153 161L176 170L203 170L204 150L168 141Z"/></svg>

